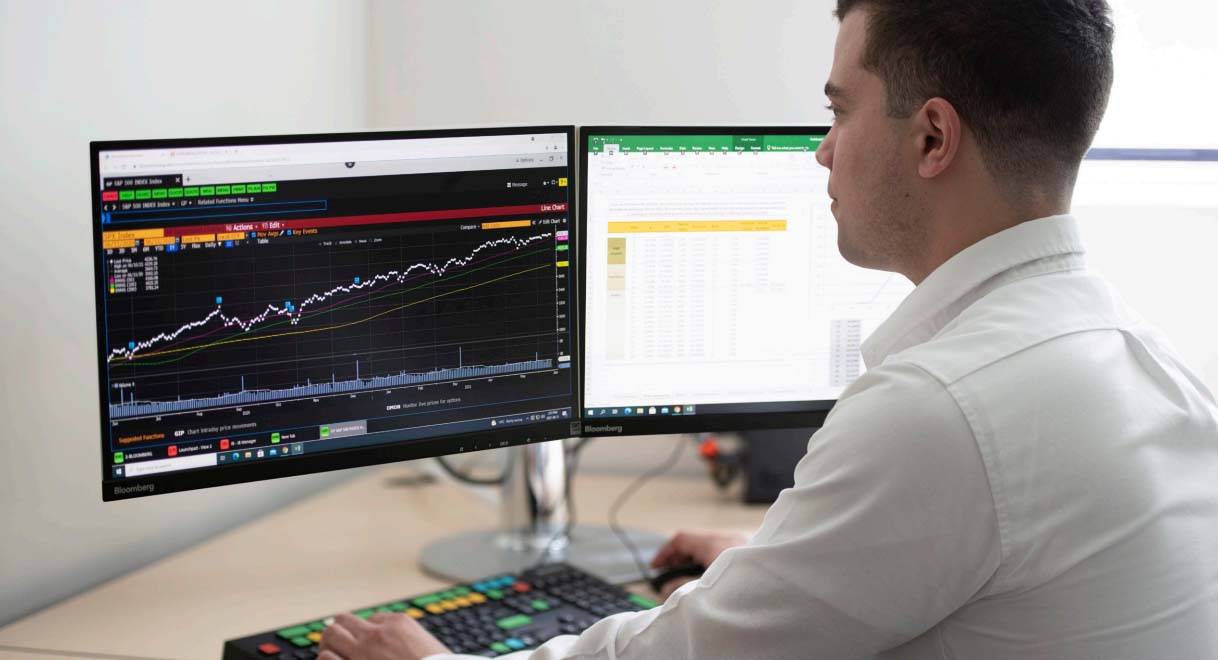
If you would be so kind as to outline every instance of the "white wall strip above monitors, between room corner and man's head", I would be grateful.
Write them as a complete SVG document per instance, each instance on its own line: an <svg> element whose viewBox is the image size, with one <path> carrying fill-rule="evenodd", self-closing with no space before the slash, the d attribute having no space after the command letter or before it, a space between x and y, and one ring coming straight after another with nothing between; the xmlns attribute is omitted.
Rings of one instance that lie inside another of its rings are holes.
<svg viewBox="0 0 1218 660"><path fill-rule="evenodd" d="M827 123L831 0L371 0L375 127Z"/></svg>

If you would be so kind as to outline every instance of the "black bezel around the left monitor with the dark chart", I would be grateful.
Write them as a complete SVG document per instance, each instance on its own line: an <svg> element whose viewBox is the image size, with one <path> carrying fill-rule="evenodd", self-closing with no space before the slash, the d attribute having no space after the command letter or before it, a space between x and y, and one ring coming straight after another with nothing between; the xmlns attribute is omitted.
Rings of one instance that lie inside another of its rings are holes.
<svg viewBox="0 0 1218 660"><path fill-rule="evenodd" d="M97 222L101 214L101 189L99 186L100 163L99 157L104 151L141 150L141 149L166 149L166 147L206 147L206 146L248 146L248 145L278 145L294 142L340 142L340 141L375 141L375 140L401 140L401 139L428 139L428 138L479 138L495 135L521 135L530 133L564 133L566 135L566 167L574 181L577 181L576 155L575 155L575 125L527 125L527 127L485 127L485 128L453 128L453 129L428 129L428 130L392 130L392 132L359 132L359 133L324 133L324 134L292 134L292 135L242 135L227 138L184 138L184 139L151 139L151 140L97 140L89 142L89 195L91 200L90 223L93 224L93 259L94 259L94 313L95 334L97 336L97 356L104 356L107 351L105 337L105 286L104 264L101 259L102 228ZM579 240L579 195L569 195L568 203L568 230L575 233ZM569 269L568 286L571 287L570 301L577 309L580 296L582 295L582 278L580 274L579 250L572 257ZM579 331L571 332L571 369L576 369L580 376L575 379L572 390L571 418L563 421L551 421L533 424L529 426L515 426L510 429L479 431L473 434L460 434L440 436L426 440L400 441L389 444L375 444L370 447L357 447L350 449L334 449L317 454L301 454L286 459L252 462L244 464L228 464L222 468L208 466L173 472L161 472L141 477L111 476L112 464L110 459L108 399L106 393L106 368L97 362L97 420L99 440L101 447L101 498L104 502L118 499L132 499L153 494L211 488L216 486L228 486L251 481L266 481L289 476L328 472L334 470L346 470L348 468L363 468L396 463L401 460L414 460L421 458L435 458L441 455L462 454L533 442L547 442L563 440L579 435L581 395L582 395L582 352L581 335ZM118 490L118 488L122 488Z"/></svg>

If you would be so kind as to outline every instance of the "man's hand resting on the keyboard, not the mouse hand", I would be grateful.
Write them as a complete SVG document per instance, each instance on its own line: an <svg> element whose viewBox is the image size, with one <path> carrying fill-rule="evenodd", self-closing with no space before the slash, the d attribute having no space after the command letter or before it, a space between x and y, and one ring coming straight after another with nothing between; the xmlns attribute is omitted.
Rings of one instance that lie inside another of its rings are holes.
<svg viewBox="0 0 1218 660"><path fill-rule="evenodd" d="M420 660L452 653L415 620L401 614L374 614L367 621L340 614L322 633L318 660Z"/></svg>

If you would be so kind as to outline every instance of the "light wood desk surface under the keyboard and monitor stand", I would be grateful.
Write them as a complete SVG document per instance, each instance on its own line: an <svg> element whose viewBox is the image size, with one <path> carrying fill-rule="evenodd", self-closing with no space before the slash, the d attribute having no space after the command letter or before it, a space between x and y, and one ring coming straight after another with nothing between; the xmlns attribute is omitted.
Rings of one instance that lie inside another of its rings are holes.
<svg viewBox="0 0 1218 660"><path fill-rule="evenodd" d="M0 628L0 660L9 654L217 660L228 638L441 588L446 582L420 572L420 548L440 536L492 526L497 510L447 480L401 485L414 470L371 470L16 621ZM632 479L581 474L579 522L605 524L609 505ZM637 492L620 520L665 535L752 531L765 510L719 492L706 479L664 477Z"/></svg>

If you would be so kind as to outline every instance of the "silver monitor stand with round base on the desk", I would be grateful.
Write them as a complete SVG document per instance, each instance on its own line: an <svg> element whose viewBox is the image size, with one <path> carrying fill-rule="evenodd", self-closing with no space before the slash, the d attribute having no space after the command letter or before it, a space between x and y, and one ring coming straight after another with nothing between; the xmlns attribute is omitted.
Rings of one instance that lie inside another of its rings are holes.
<svg viewBox="0 0 1218 660"><path fill-rule="evenodd" d="M423 570L452 582L519 572L535 564L565 561L615 585L643 578L630 550L609 527L566 526L566 455L563 441L508 449L507 479L499 499L499 527L434 541L423 548ZM643 563L666 538L624 530Z"/></svg>

